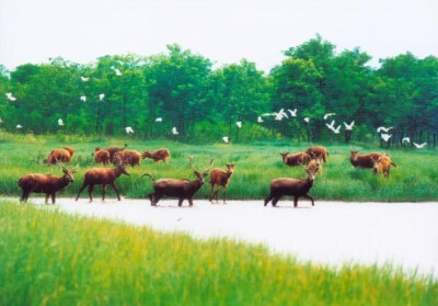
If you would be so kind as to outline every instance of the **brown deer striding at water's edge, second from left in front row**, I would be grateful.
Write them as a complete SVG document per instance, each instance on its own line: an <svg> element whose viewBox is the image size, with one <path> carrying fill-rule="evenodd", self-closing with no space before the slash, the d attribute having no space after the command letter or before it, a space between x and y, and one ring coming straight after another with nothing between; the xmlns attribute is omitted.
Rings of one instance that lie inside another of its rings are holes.
<svg viewBox="0 0 438 306"><path fill-rule="evenodd" d="M105 201L106 185L111 185L114 189L114 191L117 194L118 201L120 201L120 194L119 194L119 191L118 191L117 186L115 185L114 181L122 174L129 175L129 173L126 170L122 160L118 160L117 166L114 169L107 169L107 168L90 169L89 171L85 172L82 186L78 192L78 196L76 197L76 201L78 201L79 195L85 189L85 186L89 186L89 196L90 196L90 203L91 203L93 201L92 193L93 193L94 185L103 185L102 186L102 201Z"/></svg>

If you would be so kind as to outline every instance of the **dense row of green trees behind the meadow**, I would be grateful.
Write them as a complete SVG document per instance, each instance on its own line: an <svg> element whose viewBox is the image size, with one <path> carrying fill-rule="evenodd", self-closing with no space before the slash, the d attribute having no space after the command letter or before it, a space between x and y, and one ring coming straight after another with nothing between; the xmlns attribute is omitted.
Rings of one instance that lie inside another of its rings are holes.
<svg viewBox="0 0 438 306"><path fill-rule="evenodd" d="M0 65L0 128L122 135L131 127L132 137L186 141L290 137L382 146L410 137L436 147L437 57L406 53L372 68L367 53L336 53L319 35L284 54L268 73L247 59L214 69L210 59L178 45L163 54L102 56L87 65L60 57L13 71ZM278 116L281 109L287 117ZM324 120L327 113L335 115ZM332 121L341 133L327 128ZM353 121L354 128L345 129L343 123ZM379 126L392 127L388 143Z"/></svg>

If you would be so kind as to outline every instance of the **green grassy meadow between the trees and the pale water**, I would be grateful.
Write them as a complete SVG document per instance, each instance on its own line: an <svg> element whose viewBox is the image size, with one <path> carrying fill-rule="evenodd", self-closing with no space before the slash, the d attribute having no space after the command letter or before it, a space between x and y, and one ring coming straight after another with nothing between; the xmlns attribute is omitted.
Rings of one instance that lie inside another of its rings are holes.
<svg viewBox="0 0 438 306"><path fill-rule="evenodd" d="M149 178L140 178L145 172L155 178L188 178L194 179L188 166L188 156L194 157L195 166L205 169L209 158L215 158L215 167L224 168L226 162L237 162L235 172L228 188L230 200L264 199L268 194L269 182L279 177L304 178L301 167L290 168L281 163L280 150L290 152L303 151L312 144L308 143L254 143L245 145L204 144L189 145L170 140L134 140L128 138L90 138L71 135L11 135L0 134L0 194L19 196L21 190L18 179L26 173L60 174L58 167L46 167L42 163L51 149L72 146L77 149L73 165L80 158L80 168L76 181L58 196L76 195L82 184L84 172L92 167L91 154L96 146L127 143L129 149L139 151L154 150L166 147L172 158L169 165L153 163L150 159L142 160L141 168L130 168L131 175L123 175L116 181L122 194L128 197L146 197L151 192L152 182ZM327 147L330 157L323 165L323 174L318 175L311 194L319 200L342 201L437 201L438 168L435 150L394 149L382 150L376 146L364 144L321 144ZM371 170L355 169L349 163L349 151L360 149L361 152L389 152L399 168L391 169L390 178L374 175ZM38 152L43 155L36 162ZM208 182L208 178L207 178ZM197 194L206 199L209 188L206 184ZM94 191L100 196L101 188ZM221 193L220 193L221 194ZM115 193L108 189L108 196ZM32 196L32 195L31 195ZM87 196L87 191L81 196Z"/></svg>

